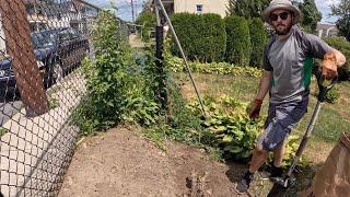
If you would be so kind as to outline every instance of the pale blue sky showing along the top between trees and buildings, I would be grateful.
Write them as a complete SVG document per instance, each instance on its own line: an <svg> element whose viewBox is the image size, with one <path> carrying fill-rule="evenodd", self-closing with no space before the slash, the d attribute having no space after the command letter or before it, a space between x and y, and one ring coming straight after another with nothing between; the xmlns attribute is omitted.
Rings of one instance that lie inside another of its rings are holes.
<svg viewBox="0 0 350 197"><path fill-rule="evenodd" d="M96 4L102 8L108 8L109 7L109 0L88 0L89 2ZM131 0L113 0L116 4L118 10L118 15L120 19L125 21L132 21L132 14L131 14ZM142 3L144 0L133 0L136 4L136 13L140 13L142 10ZM217 0L212 0L217 1ZM340 0L315 0L317 9L323 14L323 22L336 22L336 18L329 18L328 14L330 13L330 5L331 4L338 4Z"/></svg>

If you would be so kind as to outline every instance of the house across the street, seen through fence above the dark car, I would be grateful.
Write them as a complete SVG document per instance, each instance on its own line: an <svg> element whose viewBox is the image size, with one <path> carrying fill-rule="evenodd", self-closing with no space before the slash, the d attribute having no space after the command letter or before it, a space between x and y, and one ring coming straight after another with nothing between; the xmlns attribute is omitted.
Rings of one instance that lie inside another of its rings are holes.
<svg viewBox="0 0 350 197"><path fill-rule="evenodd" d="M97 7L80 0L24 0L31 32L52 27L72 27L78 32L88 32ZM0 15L0 53L5 54L5 36Z"/></svg>

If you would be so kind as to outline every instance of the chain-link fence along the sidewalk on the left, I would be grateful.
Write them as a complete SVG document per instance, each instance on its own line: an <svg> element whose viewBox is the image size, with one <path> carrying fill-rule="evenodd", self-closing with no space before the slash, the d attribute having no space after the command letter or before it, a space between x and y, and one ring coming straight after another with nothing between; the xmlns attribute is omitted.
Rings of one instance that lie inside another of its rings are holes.
<svg viewBox="0 0 350 197"><path fill-rule="evenodd" d="M81 61L91 55L98 8L81 0L1 0L0 192L56 196L85 94Z"/></svg>

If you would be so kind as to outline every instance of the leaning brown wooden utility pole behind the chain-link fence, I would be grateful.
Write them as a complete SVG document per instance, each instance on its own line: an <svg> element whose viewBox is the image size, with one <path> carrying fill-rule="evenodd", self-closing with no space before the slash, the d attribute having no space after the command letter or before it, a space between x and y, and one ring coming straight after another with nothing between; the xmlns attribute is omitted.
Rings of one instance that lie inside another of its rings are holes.
<svg viewBox="0 0 350 197"><path fill-rule="evenodd" d="M7 51L12 58L12 69L22 102L31 113L45 114L48 111L48 100L36 63L24 0L1 0L0 13Z"/></svg>

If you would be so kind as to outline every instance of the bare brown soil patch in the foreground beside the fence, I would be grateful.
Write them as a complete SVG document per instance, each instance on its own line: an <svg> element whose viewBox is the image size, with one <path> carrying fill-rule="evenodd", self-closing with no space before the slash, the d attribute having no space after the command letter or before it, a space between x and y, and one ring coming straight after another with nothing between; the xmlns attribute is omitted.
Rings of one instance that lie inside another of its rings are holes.
<svg viewBox="0 0 350 197"><path fill-rule="evenodd" d="M59 196L237 196L234 185L244 165L212 161L203 150L178 142L166 147L164 152L127 128L88 137Z"/></svg>

